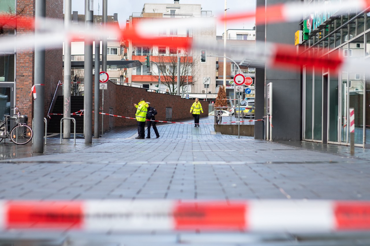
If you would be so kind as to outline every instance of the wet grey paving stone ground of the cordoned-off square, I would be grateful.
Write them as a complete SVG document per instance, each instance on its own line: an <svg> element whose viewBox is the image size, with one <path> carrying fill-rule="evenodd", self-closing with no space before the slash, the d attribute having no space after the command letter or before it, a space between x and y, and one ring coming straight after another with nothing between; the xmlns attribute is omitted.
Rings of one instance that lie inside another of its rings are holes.
<svg viewBox="0 0 370 246"><path fill-rule="evenodd" d="M238 139L212 124L158 130L134 139L136 127L114 129L75 146L48 139L44 154L1 142L0 199L370 199L367 149Z"/></svg>

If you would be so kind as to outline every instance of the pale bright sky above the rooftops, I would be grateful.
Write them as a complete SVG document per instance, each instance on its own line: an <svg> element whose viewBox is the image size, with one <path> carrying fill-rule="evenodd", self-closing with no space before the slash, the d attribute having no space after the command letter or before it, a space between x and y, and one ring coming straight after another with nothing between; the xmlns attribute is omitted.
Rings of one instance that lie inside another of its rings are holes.
<svg viewBox="0 0 370 246"><path fill-rule="evenodd" d="M102 0L94 1L94 14L102 14ZM224 16L225 13L225 0L179 0L183 4L201 4L202 10L212 11L213 16L219 17ZM125 26L126 20L131 16L132 13L140 13L144 3L169 3L173 4L173 0L108 0L108 16L112 16L114 13L118 14L118 21L120 22L121 28ZM98 5L100 10L98 11ZM256 1L255 0L227 0L226 3L229 8L226 11L227 15L233 13L240 13L241 11L255 11ZM78 11L78 14L85 13L85 1L84 0L72 0L72 11ZM226 29L252 29L254 21L245 21L240 23L226 23ZM217 35L222 35L224 31L224 24L217 23Z"/></svg>

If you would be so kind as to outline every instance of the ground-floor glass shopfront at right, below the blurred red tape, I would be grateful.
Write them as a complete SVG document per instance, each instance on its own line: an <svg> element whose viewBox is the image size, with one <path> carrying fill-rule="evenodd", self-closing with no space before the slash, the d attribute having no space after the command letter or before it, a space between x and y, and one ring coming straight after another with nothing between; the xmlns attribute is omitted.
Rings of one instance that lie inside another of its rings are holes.
<svg viewBox="0 0 370 246"><path fill-rule="evenodd" d="M355 145L370 147L370 79L347 71L303 68L303 140L349 145L350 108Z"/></svg>

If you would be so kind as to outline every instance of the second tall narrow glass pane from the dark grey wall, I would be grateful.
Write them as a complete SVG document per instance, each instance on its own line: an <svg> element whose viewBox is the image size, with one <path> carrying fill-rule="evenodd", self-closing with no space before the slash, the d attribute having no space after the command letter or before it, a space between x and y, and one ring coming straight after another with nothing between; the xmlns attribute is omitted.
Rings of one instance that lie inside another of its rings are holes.
<svg viewBox="0 0 370 246"><path fill-rule="evenodd" d="M313 100L313 139L322 140L322 69L315 68Z"/></svg>

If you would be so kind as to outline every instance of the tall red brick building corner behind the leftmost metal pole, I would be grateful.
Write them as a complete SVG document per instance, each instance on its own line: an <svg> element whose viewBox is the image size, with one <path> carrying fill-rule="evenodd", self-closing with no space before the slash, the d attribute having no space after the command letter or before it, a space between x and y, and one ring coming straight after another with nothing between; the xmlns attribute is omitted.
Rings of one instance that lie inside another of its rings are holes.
<svg viewBox="0 0 370 246"><path fill-rule="evenodd" d="M35 0L17 0L17 11L23 10L23 17L34 18ZM63 0L46 1L46 17L63 20ZM17 27L17 36L32 34L32 30ZM48 47L45 52L45 116L53 99L59 80L63 81L63 49L60 45ZM34 50L33 46L20 47L16 50L16 107L24 109L28 115L28 124L33 118L33 98L30 96L34 83ZM58 89L61 95L61 89Z"/></svg>

